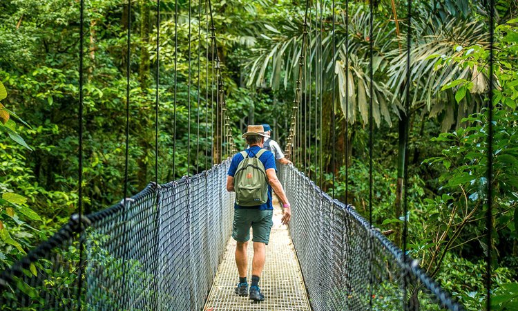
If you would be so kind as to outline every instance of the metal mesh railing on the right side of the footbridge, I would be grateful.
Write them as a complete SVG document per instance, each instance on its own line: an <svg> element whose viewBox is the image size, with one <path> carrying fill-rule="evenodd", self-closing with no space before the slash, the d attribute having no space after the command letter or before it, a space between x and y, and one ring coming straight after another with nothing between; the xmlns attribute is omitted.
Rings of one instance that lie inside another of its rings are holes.
<svg viewBox="0 0 518 311"><path fill-rule="evenodd" d="M280 180L315 311L463 310L354 207L332 200L291 165L281 165Z"/></svg>

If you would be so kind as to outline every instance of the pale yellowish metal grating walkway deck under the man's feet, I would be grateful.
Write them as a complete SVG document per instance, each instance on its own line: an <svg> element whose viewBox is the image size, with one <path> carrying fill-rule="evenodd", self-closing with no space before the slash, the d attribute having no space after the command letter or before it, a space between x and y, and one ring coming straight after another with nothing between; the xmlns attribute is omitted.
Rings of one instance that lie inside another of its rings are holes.
<svg viewBox="0 0 518 311"><path fill-rule="evenodd" d="M282 211L274 205L274 227L267 245L266 264L259 287L265 301L255 303L248 296L238 296L238 268L234 260L236 241L230 238L223 261L205 303L205 311L296 310L310 311L300 266L286 226L280 223ZM253 244L248 245L248 283L251 283Z"/></svg>

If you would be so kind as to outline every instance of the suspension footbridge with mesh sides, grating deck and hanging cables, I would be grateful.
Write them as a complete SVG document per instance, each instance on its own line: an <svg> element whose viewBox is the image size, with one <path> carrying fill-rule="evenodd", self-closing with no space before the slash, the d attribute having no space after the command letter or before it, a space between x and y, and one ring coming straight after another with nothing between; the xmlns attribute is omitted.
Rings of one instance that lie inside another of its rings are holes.
<svg viewBox="0 0 518 311"><path fill-rule="evenodd" d="M308 3L302 50L307 45ZM210 1L206 6L212 20ZM131 12L131 3L129 8ZM83 12L81 1L81 126ZM419 261L396 247L372 221L352 205L326 194L292 165L279 167L292 220L289 229L278 225L272 235L265 271L266 301L251 303L233 294L237 280L230 238L234 198L225 189L230 160L224 155L231 156L236 145L224 114L224 84L213 22L207 28L211 32L212 68L217 75L215 105L220 110L215 126L219 135L214 142L218 150L211 152L221 161L193 176L165 184L155 180L107 209L90 214L79 209L79 214L71 216L48 241L0 274L1 309L463 310L421 270ZM128 42L130 38L128 30ZM157 55L159 49L157 46ZM287 150L293 158L302 144L297 142L297 133L303 62L304 53L300 53ZM129 88L126 99L128 108ZM211 102L208 93L206 102ZM158 92L156 104L158 114ZM129 120L126 142L128 124ZM82 128L79 133L82 135ZM82 145L79 152L82 159ZM126 144L125 194L127 154ZM158 163L157 153L155 156ZM79 163L81 200L81 160Z"/></svg>

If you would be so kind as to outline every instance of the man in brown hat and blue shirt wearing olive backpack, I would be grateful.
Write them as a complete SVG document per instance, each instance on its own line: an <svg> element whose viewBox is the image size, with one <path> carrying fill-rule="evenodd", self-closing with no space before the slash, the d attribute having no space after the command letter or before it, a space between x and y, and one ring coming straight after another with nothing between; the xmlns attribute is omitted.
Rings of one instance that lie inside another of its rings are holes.
<svg viewBox="0 0 518 311"><path fill-rule="evenodd" d="M232 238L236 240L236 265L238 265L239 283L236 294L248 294L247 282L247 246L250 239L250 227L253 232L252 283L250 299L263 301L265 296L259 289L259 279L266 260L266 245L270 238L274 206L271 203L271 190L282 202L284 214L282 224L291 218L288 198L277 178L274 153L262 149L267 135L262 125L249 125L242 135L249 148L237 153L230 164L227 190L236 191Z"/></svg>

